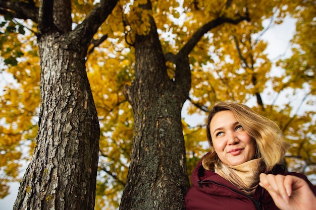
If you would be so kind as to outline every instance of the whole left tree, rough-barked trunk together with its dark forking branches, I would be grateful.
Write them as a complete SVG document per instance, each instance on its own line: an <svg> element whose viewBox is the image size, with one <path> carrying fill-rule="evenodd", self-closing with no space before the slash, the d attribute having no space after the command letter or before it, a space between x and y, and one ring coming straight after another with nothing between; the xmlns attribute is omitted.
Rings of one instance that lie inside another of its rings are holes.
<svg viewBox="0 0 316 210"><path fill-rule="evenodd" d="M41 106L34 155L14 209L92 210L99 124L84 58L117 1L101 1L73 31L70 0L42 0L39 8L19 3L1 4L13 11L13 17L38 23ZM25 8L38 11L38 19L28 16Z"/></svg>

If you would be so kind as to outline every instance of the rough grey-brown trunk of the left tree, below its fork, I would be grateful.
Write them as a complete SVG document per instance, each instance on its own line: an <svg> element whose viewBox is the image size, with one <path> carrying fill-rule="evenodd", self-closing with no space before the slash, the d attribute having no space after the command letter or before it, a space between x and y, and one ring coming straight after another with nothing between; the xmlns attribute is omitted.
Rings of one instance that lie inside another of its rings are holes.
<svg viewBox="0 0 316 210"><path fill-rule="evenodd" d="M39 39L39 130L14 209L94 209L97 113L85 60L55 35Z"/></svg>

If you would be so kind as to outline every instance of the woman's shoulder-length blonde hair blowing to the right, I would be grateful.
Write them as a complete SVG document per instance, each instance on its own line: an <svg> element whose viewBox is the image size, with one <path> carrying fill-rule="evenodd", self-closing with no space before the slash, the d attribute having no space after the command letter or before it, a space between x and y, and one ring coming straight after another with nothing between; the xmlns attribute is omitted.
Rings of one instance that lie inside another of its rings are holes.
<svg viewBox="0 0 316 210"><path fill-rule="evenodd" d="M210 110L206 121L207 141L211 150L202 160L206 170L213 170L214 166L220 165L221 162L213 148L209 126L214 115L225 110L232 111L241 126L254 139L256 145L254 158L262 158L268 170L283 160L290 145L283 140L282 131L275 122L257 114L246 105L218 101Z"/></svg>

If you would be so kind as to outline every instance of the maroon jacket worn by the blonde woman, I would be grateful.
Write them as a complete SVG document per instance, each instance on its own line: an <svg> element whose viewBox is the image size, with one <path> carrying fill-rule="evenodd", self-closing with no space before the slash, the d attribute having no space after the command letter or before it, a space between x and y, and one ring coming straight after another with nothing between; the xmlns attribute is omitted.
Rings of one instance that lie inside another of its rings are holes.
<svg viewBox="0 0 316 210"><path fill-rule="evenodd" d="M300 177L309 184L307 177L295 172L286 172L283 166L276 166L269 173L293 175ZM199 161L191 175L192 186L185 197L186 210L279 210L269 192L258 185L253 197L247 196L232 183L213 171L206 171Z"/></svg>

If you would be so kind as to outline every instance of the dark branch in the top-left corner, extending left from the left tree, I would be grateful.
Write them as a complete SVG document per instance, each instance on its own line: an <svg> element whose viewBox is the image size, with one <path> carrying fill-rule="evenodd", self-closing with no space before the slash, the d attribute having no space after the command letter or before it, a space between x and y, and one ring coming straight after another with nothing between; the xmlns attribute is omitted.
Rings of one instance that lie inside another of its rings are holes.
<svg viewBox="0 0 316 210"><path fill-rule="evenodd" d="M38 8L35 7L33 1L28 3L22 1L1 0L0 1L0 14L6 15L9 13L13 18L30 19L37 23L38 21Z"/></svg>

